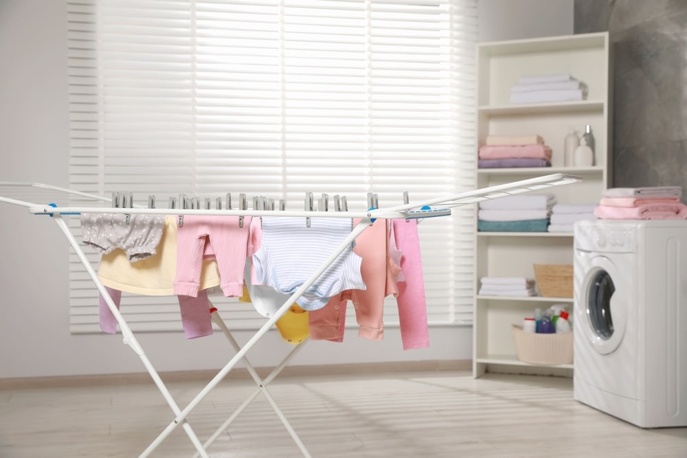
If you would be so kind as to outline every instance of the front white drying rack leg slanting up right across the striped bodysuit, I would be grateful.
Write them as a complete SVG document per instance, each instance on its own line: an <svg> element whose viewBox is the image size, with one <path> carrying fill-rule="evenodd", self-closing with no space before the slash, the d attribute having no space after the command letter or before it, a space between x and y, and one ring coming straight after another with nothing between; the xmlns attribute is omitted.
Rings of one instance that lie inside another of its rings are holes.
<svg viewBox="0 0 687 458"><path fill-rule="evenodd" d="M214 387L216 387L216 385L218 385L218 383L221 382L227 376L227 374L229 374L229 371L234 369L236 363L238 363L239 360L242 360L246 353L249 352L251 348L253 348L256 345L256 343L258 343L258 341L262 339L264 334L267 334L270 328L272 328L272 326L275 325L275 323L284 315L284 313L286 313L286 311L288 311L289 308L291 308L291 304L293 304L296 301L296 299L301 297L303 293L305 293L306 290L310 288L310 286L313 283L315 283L317 278L320 275L322 275L326 268L330 264L332 264L337 259L337 257L339 257L339 254L341 254L343 250L346 249L346 247L348 247L349 244L352 244L354 240L370 225L372 225L372 220L368 218L361 220L353 228L351 233L346 237L346 240L343 240L343 242L327 258L327 260L323 262L322 265L319 266L319 268L317 268L317 272L313 273L313 275L308 277L308 279L301 286L299 286L297 290L295 290L293 295L291 295L289 299L286 299L286 301L284 302L284 304L282 304L279 310L277 310L277 312L275 312L275 314L273 314L273 316L269 320L267 320L260 327L260 329L258 329L255 332L255 334L253 334L251 339L249 339L247 343L245 343L245 345L243 345L243 347L241 347L241 349L238 352L236 352L234 357L231 360L229 360L229 362L216 374L216 376L214 376L214 378L212 378L212 380L210 380L210 382L207 383L207 385L205 385L201 392L198 393L198 395L196 395L196 397L193 398L191 402L189 402L188 405L179 414L177 414L177 417L174 418L174 420L170 424L168 424L164 431L162 431L159 434L159 436L155 439L153 444L159 444L160 442L162 442L166 437L168 437L168 435L172 433L172 431L174 431L175 428L177 428L177 426L179 426L180 423L184 422L185 417L190 413L190 411L195 409L195 407L203 400L203 398L207 396L207 393L210 393L210 391L212 391L212 389L214 389ZM151 444L151 446L153 446L153 444ZM148 453L148 450L146 450L144 454L140 455L140 458L148 456ZM201 454L201 456L203 455Z"/></svg>

